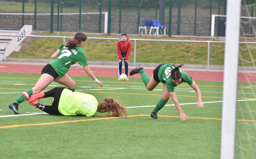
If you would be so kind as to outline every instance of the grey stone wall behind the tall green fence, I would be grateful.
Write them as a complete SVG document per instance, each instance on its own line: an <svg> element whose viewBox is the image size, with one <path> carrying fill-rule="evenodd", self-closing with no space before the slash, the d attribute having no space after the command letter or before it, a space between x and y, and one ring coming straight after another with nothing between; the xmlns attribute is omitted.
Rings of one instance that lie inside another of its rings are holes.
<svg viewBox="0 0 256 159"><path fill-rule="evenodd" d="M101 18L101 32L104 32L104 14ZM0 15L0 28L21 28L22 15ZM53 16L53 31L57 31L57 15ZM140 16L140 24L144 24L148 20L148 16ZM222 19L224 20L224 19ZM165 26L167 26L166 34L168 35L169 17L165 17ZM210 19L209 16L197 16L196 34L195 34L195 17L181 16L180 35L188 36L210 36ZM106 22L107 23L107 22ZM121 17L121 33L137 34L138 32L138 16L122 15ZM255 23L253 21L253 23ZM34 15L24 15L24 24L32 25L34 30ZM62 24L62 27L61 27ZM250 33L250 24L243 23L244 32ZM215 19L215 34L217 35L217 19ZM50 15L37 15L37 31L50 31ZM79 31L78 15L63 15L62 23L59 16L59 31ZM81 15L81 29L83 32L99 32L99 15ZM111 33L119 33L119 14L111 14ZM149 29L148 29L149 33ZM172 17L171 34L177 35L177 17Z"/></svg>

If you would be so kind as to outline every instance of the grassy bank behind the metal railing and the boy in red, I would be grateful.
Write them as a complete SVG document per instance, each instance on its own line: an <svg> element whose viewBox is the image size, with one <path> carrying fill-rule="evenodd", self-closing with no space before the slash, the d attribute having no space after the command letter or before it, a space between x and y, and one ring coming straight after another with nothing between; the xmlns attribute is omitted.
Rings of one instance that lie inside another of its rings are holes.
<svg viewBox="0 0 256 159"><path fill-rule="evenodd" d="M51 36L74 36L74 33L61 32L49 33L44 35ZM117 35L95 35L89 34L89 37L119 38ZM210 38L174 38L174 37L154 37L154 36L129 36L133 39L175 39L175 40L208 40ZM27 41L27 42L26 42ZM66 42L68 39L66 39ZM254 40L251 40L254 41ZM35 58L50 59L51 55L63 43L61 38L30 38L25 39L26 47L18 52L12 53L9 57L16 58ZM116 61L117 40L96 40L88 39L84 50L87 60L92 61ZM134 41L131 41L130 62L134 59ZM240 45L241 57L244 59L240 66L254 66L256 61L256 50L254 45ZM136 62L150 63L185 63L185 64L207 64L207 43L179 43L179 42L154 42L154 41L137 41L136 42ZM251 57L252 56L252 57ZM224 63L224 44L210 44L210 65L223 65Z"/></svg>

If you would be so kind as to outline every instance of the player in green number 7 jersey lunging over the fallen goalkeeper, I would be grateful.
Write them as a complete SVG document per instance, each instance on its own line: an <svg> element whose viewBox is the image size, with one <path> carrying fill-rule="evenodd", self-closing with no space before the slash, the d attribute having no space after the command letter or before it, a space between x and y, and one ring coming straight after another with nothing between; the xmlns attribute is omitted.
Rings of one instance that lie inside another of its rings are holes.
<svg viewBox="0 0 256 159"><path fill-rule="evenodd" d="M32 89L23 92L14 103L9 105L9 108L12 109L14 114L19 114L18 106L20 103L29 99L32 94L40 93L52 81L68 87L69 90L75 91L76 83L66 73L69 67L76 62L84 67L86 74L100 85L100 87L103 86L101 81L96 79L87 64L87 57L83 49L86 40L87 36L84 33L77 32L74 38L69 40L66 45L62 44L59 46L57 51L51 56L51 62L42 69L41 77L36 85Z"/></svg>

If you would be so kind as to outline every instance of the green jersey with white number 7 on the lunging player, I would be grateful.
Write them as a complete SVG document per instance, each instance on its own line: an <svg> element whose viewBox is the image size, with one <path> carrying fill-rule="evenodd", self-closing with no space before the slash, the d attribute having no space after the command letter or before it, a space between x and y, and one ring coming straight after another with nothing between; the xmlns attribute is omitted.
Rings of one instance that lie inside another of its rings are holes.
<svg viewBox="0 0 256 159"><path fill-rule="evenodd" d="M49 64L55 69L60 77L64 76L69 70L69 67L76 62L80 65L88 65L87 57L84 49L80 46L76 46L74 49L67 48L64 44L60 45L59 55L53 59Z"/></svg>

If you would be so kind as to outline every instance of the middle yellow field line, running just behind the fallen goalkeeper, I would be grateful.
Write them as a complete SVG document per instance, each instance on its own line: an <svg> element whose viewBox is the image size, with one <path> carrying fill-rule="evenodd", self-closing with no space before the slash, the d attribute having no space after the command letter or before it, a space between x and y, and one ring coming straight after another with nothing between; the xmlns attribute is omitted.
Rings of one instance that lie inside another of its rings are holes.
<svg viewBox="0 0 256 159"><path fill-rule="evenodd" d="M27 90L27 89L18 89L18 88L0 88L0 89L8 89L8 90ZM48 91L48 90L43 90ZM136 95L162 95L162 94L144 94L144 93L121 93L121 92L92 92L92 91L78 91L84 93L108 93L108 94L136 94ZM177 95L178 97L197 97L194 95ZM202 96L203 98L223 98L223 97L207 97ZM254 99L254 98L237 98L237 99Z"/></svg>

